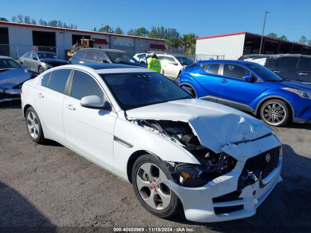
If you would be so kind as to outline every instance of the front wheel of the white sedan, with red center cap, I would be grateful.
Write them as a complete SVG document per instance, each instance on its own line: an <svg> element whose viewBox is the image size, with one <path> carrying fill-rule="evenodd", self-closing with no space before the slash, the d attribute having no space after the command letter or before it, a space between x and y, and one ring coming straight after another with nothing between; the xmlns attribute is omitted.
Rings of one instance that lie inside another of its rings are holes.
<svg viewBox="0 0 311 233"><path fill-rule="evenodd" d="M150 154L140 156L134 163L132 183L141 205L155 216L168 218L179 210L177 195L163 180L173 180L172 175Z"/></svg>

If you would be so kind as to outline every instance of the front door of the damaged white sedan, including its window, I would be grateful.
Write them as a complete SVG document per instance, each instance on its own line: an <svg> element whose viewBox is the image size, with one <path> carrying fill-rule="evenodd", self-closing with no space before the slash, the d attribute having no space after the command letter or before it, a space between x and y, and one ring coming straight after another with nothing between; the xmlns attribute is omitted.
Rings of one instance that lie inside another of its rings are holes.
<svg viewBox="0 0 311 233"><path fill-rule="evenodd" d="M118 115L80 105L80 100L86 96L104 98L102 88L90 74L75 70L68 94L63 104L66 144L103 166L112 168L113 133Z"/></svg>

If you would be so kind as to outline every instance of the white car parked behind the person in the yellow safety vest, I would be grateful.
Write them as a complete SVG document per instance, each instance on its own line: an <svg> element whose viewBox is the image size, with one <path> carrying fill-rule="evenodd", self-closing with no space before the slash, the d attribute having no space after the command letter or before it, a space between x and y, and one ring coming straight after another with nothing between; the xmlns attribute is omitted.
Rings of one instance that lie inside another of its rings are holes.
<svg viewBox="0 0 311 233"><path fill-rule="evenodd" d="M168 54L163 52L147 52L147 53L137 53L134 58L138 60L141 64L148 64L151 59L152 54L158 56L161 62L163 74L169 79L176 80L179 71L184 67L194 62L186 56L178 54Z"/></svg>

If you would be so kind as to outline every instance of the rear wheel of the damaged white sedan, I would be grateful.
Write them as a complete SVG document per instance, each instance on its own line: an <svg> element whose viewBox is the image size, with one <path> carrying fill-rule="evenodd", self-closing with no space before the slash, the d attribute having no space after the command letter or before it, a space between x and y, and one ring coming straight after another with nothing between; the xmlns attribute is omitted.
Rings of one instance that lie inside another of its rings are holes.
<svg viewBox="0 0 311 233"><path fill-rule="evenodd" d="M29 107L26 111L26 126L30 138L40 144L44 142L44 134L41 126L40 119L33 107Z"/></svg>

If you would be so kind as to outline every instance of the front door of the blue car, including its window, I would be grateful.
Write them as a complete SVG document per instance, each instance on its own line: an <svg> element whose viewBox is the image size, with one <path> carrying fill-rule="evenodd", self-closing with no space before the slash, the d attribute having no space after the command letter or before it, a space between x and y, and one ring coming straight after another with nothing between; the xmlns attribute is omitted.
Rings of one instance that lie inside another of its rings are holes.
<svg viewBox="0 0 311 233"><path fill-rule="evenodd" d="M219 79L217 102L243 110L253 111L251 102L259 95L259 83L256 76L253 82L244 80L244 75L252 74L245 67L236 64L224 64L223 76Z"/></svg>

